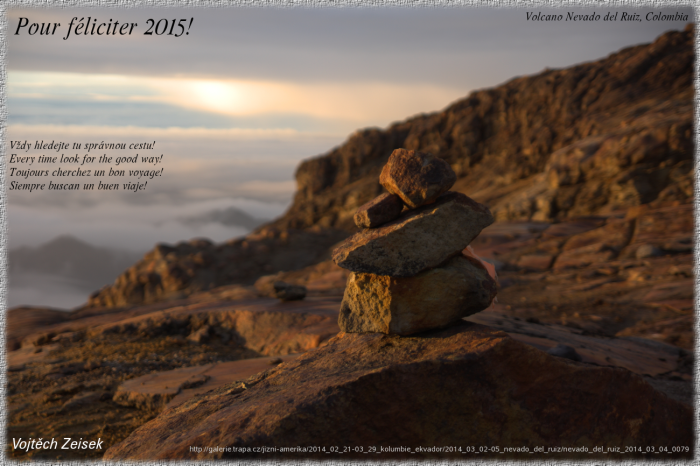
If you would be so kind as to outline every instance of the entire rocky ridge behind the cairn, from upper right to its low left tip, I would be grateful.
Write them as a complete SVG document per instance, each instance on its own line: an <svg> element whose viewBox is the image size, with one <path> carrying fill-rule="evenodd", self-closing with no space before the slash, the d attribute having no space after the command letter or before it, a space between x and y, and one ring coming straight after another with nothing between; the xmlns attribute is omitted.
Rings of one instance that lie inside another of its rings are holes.
<svg viewBox="0 0 700 466"><path fill-rule="evenodd" d="M158 246L89 306L183 297L328 257L381 193L396 148L424 150L457 174L453 191L497 221L559 221L693 197L694 29L609 57L479 90L442 112L353 134L303 162L287 213L245 239Z"/></svg>

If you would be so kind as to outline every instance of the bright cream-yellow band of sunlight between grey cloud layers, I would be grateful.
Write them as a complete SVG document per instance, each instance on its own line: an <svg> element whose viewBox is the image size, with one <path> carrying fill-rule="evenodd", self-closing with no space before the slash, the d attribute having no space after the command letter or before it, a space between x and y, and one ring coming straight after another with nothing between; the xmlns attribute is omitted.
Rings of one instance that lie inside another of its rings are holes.
<svg viewBox="0 0 700 466"><path fill-rule="evenodd" d="M357 127L438 111L466 94L428 84L304 84L25 71L8 72L7 90L10 98L152 102L235 116L342 118L357 122Z"/></svg>

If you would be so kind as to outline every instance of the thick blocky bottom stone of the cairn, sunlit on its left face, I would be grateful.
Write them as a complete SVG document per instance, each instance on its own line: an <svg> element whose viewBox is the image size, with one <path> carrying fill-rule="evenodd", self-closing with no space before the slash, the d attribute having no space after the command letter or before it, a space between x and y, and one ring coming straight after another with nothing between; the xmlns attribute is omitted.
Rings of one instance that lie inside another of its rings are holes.
<svg viewBox="0 0 700 466"><path fill-rule="evenodd" d="M410 335L486 309L496 282L476 259L457 256L414 277L350 275L338 325L348 333Z"/></svg>

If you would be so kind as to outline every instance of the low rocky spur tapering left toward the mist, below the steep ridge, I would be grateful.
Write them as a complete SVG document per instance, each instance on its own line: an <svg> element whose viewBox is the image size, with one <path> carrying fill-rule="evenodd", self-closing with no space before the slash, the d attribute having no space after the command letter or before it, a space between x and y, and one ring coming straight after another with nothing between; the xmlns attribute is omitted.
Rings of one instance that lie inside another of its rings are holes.
<svg viewBox="0 0 700 466"><path fill-rule="evenodd" d="M147 304L232 283L252 285L262 275L297 270L327 259L328 248L345 236L334 229L263 227L219 245L205 239L174 246L159 244L113 285L93 293L87 307Z"/></svg>

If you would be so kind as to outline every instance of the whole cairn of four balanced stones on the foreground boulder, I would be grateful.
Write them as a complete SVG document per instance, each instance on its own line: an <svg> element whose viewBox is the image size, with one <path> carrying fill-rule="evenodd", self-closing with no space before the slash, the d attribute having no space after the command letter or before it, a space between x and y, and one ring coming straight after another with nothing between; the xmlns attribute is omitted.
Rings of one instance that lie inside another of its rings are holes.
<svg viewBox="0 0 700 466"><path fill-rule="evenodd" d="M496 282L462 251L494 219L486 206L449 191L455 181L447 162L430 153L391 154L379 177L389 193L357 210L363 230L333 251L335 263L353 272L342 331L409 335L491 304Z"/></svg>

